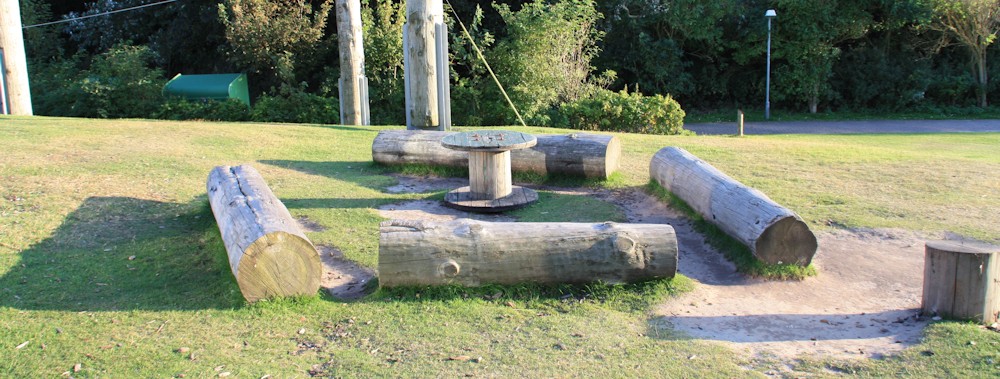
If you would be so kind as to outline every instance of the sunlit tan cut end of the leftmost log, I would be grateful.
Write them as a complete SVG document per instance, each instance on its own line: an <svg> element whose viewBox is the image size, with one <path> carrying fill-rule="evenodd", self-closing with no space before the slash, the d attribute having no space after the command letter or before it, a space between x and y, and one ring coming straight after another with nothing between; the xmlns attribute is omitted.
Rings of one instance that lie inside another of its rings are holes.
<svg viewBox="0 0 1000 379"><path fill-rule="evenodd" d="M319 289L323 263L308 240L274 232L247 247L236 281L250 302L276 296L299 296Z"/></svg>

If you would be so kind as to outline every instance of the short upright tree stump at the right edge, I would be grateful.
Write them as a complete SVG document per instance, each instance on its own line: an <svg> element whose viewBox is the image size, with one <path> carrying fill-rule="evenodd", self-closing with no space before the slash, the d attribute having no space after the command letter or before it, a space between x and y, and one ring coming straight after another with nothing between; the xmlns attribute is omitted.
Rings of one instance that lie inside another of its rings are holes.
<svg viewBox="0 0 1000 379"><path fill-rule="evenodd" d="M1000 248L931 241L924 248L925 314L992 324L1000 318Z"/></svg>

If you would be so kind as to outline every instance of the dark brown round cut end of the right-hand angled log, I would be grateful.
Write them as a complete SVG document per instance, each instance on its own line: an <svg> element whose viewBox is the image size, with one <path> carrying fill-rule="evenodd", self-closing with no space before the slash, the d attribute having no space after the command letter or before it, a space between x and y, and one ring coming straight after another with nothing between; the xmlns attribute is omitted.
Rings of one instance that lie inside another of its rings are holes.
<svg viewBox="0 0 1000 379"><path fill-rule="evenodd" d="M795 217L785 217L769 226L757 238L754 255L768 264L805 267L812 262L818 247L816 235L805 222Z"/></svg>

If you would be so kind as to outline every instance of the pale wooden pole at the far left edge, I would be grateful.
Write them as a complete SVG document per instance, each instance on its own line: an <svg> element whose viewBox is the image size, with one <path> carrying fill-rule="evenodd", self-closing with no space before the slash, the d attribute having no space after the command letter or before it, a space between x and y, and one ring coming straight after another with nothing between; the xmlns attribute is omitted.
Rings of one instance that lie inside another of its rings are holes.
<svg viewBox="0 0 1000 379"><path fill-rule="evenodd" d="M28 63L21 32L21 10L17 0L0 1L0 56L3 56L3 81L10 114L30 116L31 91L28 88Z"/></svg>

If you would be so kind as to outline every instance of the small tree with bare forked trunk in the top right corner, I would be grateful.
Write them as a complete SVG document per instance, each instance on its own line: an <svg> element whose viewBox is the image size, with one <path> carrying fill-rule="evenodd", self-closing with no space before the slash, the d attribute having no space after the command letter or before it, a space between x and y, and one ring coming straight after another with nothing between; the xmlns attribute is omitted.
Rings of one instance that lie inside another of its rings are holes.
<svg viewBox="0 0 1000 379"><path fill-rule="evenodd" d="M979 106L987 105L989 83L986 67L987 49L1000 32L1000 1L941 0L934 4L934 20L929 27L942 33L942 44L956 43L969 52L973 63L976 96Z"/></svg>

